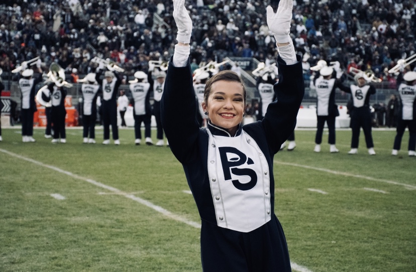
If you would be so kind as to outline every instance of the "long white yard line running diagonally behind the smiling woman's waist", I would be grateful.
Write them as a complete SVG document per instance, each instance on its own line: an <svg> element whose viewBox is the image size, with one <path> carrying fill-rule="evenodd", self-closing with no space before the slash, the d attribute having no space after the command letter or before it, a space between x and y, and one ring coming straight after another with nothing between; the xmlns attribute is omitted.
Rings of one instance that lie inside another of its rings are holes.
<svg viewBox="0 0 416 272"><path fill-rule="evenodd" d="M10 152L10 151L4 150L4 149L0 149L0 152L3 152L3 153L8 154L8 155L10 155L12 157L15 157L15 158L18 158L18 159L27 161L27 162L31 162L33 164L36 164L36 165L39 165L39 166L42 166L42 167L45 167L45 168L49 168L49 169L54 170L56 172L59 172L61 174L68 175L68 176L70 176L72 178L79 179L79 180L82 180L82 181L86 181L86 182L88 182L90 184L93 184L93 185L95 185L97 187L100 187L100 188L103 188L103 189L107 189L107 190L109 190L109 191L111 191L113 193L120 194L120 195L122 195L124 197L127 197L127 198L131 199L131 200L134 200L136 202L139 202L140 204L143 204L143 205L145 205L145 206L147 206L147 207L149 207L149 208L151 208L151 209L153 209L153 210L155 210L155 211L157 211L157 212L159 212L159 213L161 213L161 214L163 214L163 215L165 215L165 216L167 216L167 217L169 217L171 219L174 219L176 221L185 223L185 224L187 224L189 226L192 226L192 227L195 227L195 228L201 228L201 224L196 223L196 222L193 222L193 221L190 221L190 220L187 220L185 218L182 218L179 215L176 215L176 214L174 214L174 213L172 213L172 212L170 212L170 211L168 211L168 210L166 210L166 209L164 209L164 208L162 208L160 206L157 206L157 205L151 203L150 201L147 201L147 200L142 199L140 197L134 196L131 193L125 193L125 192L123 192L123 191L121 191L121 190L119 190L117 188L114 188L114 187L111 187L111 186L102 184L100 182L97 182L97 181L94 181L94 180L91 180L91 179L88 179L88 178L85 178L85 177L82 177L82 176L79 176L79 175L76 175L76 174L73 174L73 173L71 173L69 171L62 170L62 169L60 169L58 167L55 167L55 166L52 166L52 165L47 165L47 164L44 164L42 162L38 162L36 160L23 157L21 155L15 154L13 152ZM301 266L301 265L299 265L299 264L297 264L295 262L292 262L292 261L290 262L290 265L292 266L292 269L294 271L298 271L298 272L312 272L311 270L307 269L306 267Z"/></svg>

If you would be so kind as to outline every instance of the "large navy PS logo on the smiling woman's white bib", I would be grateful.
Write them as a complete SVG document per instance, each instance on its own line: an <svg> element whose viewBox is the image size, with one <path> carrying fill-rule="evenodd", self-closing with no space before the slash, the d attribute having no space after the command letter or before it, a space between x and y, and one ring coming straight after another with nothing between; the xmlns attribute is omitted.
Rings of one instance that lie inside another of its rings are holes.
<svg viewBox="0 0 416 272"><path fill-rule="evenodd" d="M240 180L232 180L234 187L241 191L248 191L254 188L257 184L257 175L253 169L250 168L238 168L238 166L254 164L253 160L248 158L244 153L233 147L221 147L219 148L221 163L223 165L224 178L226 181L232 179L231 174L236 176L248 176L250 181L247 183L241 183ZM227 154L236 155L228 159Z"/></svg>

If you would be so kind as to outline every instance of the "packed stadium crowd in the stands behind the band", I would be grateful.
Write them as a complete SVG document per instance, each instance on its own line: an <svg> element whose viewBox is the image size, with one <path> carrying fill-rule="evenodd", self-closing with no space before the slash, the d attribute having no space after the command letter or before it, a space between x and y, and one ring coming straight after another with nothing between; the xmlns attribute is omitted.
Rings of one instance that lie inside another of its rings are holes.
<svg viewBox="0 0 416 272"><path fill-rule="evenodd" d="M194 24L192 68L225 56L274 62L268 4L187 1ZM394 80L387 70L416 52L415 6L413 0L297 0L290 35L296 50L310 56L310 66L320 59L339 61L341 68L371 69L383 80ZM58 62L68 74L74 68L87 74L89 61L98 56L118 62L126 76L147 72L149 60L166 61L173 54L172 10L170 0L8 1L0 5L0 68L11 71L40 56L44 67Z"/></svg>

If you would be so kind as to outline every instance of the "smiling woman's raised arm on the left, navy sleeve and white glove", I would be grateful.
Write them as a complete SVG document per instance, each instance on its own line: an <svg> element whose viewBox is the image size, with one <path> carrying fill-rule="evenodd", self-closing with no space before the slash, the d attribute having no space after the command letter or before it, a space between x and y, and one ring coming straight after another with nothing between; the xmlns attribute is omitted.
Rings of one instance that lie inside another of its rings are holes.
<svg viewBox="0 0 416 272"><path fill-rule="evenodd" d="M173 0L173 9L178 44L169 61L161 100L161 118L170 149L180 162L185 162L196 150L193 147L199 132L189 63L192 21L185 9L185 0Z"/></svg>

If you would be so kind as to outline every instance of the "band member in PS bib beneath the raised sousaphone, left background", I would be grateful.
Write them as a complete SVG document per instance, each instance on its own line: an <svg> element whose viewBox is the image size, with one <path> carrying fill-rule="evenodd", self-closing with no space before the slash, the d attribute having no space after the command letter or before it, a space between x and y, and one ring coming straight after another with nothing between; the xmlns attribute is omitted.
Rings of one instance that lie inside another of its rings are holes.
<svg viewBox="0 0 416 272"><path fill-rule="evenodd" d="M52 143L66 143L66 132L65 132L65 96L66 90L63 86L56 86L55 83L48 84L48 89L51 93L52 103L52 128L53 128L53 139Z"/></svg>

